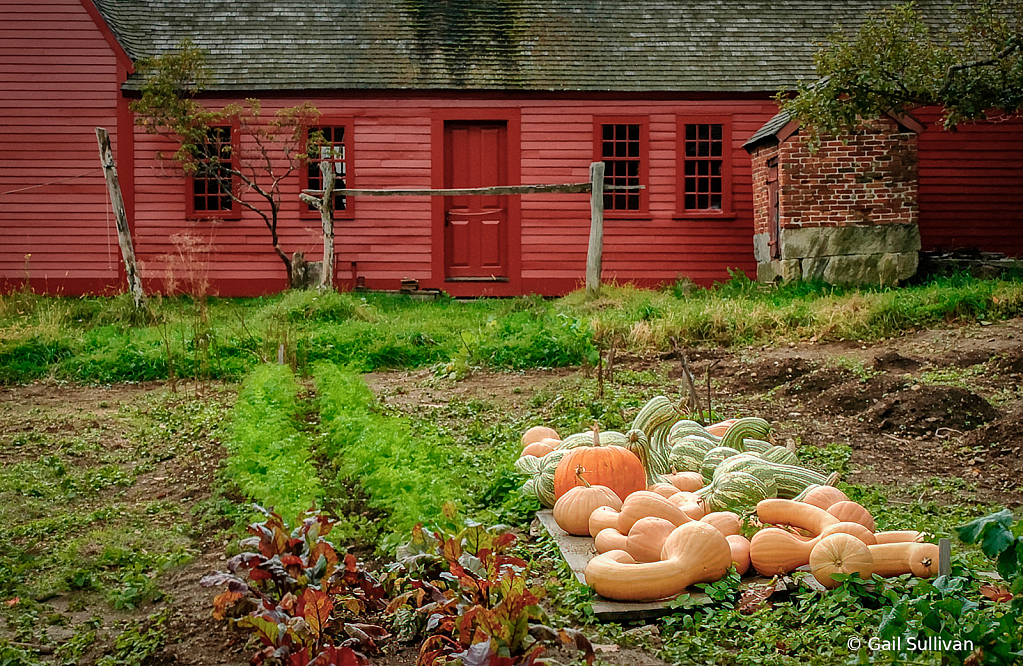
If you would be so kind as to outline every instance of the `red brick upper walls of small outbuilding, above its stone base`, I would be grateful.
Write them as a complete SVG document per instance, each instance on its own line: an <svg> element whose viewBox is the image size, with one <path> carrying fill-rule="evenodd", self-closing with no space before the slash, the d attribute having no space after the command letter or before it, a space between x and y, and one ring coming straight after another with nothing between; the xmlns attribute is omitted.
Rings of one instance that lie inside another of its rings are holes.
<svg viewBox="0 0 1023 666"><path fill-rule="evenodd" d="M917 223L917 135L893 121L822 140L815 153L797 134L777 151L783 228ZM766 158L758 167L766 173ZM754 182L766 196L766 178Z"/></svg>

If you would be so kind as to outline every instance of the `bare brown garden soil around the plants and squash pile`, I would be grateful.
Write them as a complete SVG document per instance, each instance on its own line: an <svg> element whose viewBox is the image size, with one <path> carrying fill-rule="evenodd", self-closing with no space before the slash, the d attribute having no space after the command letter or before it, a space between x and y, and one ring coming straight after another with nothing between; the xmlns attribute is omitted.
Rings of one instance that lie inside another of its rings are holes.
<svg viewBox="0 0 1023 666"><path fill-rule="evenodd" d="M955 493L955 501L966 495L1009 507L1023 504L1023 320L925 330L875 344L690 350L687 356L697 376L710 370L719 413L761 415L775 425L775 438L782 444L851 447L846 477L850 482L884 485L892 499L913 501L918 498L900 496L903 489L936 478L953 483L934 485L929 499L941 501L949 494L951 500L950 493ZM654 370L650 375L661 378L637 387L651 395L678 394L678 366L673 355L619 360L620 369ZM514 413L524 410L536 391L585 372L477 371L455 381L417 370L379 372L366 379L382 400L410 413L468 399L487 400ZM7 467L38 456L42 444L11 442L31 441L40 429L51 434L65 431L70 436L89 432L98 438L100 448L124 449L130 459L131 447L140 440L131 436L135 421L124 419L120 407L144 406L147 396L166 391L160 384L88 388L40 383L0 388L0 441L6 443L0 447L0 461ZM170 457L135 475L118 500L130 507L159 498L179 506L182 520L191 522L193 557L189 564L163 574L163 601L132 612L114 612L102 603L71 612L69 600L60 595L46 603L69 615L72 623L80 615L98 615L104 627L167 608L170 640L157 663L244 663L243 641L210 618L212 592L197 586L198 578L219 568L224 558L225 543L216 537L218 526L197 529L197 519L192 518L192 509L211 495L222 455L218 442L202 443L187 455ZM104 640L108 645L112 635L107 631L97 646ZM0 627L0 638L11 637L10 627ZM633 652L609 648L602 658L638 663ZM89 662L88 657L83 663ZM414 651L402 652L388 663L414 663Z"/></svg>

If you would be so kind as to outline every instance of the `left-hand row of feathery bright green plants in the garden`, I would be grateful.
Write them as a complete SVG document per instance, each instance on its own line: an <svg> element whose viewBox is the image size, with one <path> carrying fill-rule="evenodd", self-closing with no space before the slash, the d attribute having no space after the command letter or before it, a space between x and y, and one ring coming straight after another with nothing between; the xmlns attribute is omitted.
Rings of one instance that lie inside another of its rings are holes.
<svg viewBox="0 0 1023 666"><path fill-rule="evenodd" d="M255 501L288 520L322 490L299 429L299 385L286 365L260 365L246 378L231 413L225 473Z"/></svg>

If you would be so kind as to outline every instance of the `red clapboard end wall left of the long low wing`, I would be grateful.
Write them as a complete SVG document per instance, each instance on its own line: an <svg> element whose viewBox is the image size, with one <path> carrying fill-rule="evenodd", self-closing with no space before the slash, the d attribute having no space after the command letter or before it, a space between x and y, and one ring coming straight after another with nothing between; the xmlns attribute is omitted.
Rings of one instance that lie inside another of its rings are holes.
<svg viewBox="0 0 1023 666"><path fill-rule="evenodd" d="M119 98L117 54L80 0L0 3L0 285L118 282L95 128L117 150Z"/></svg>

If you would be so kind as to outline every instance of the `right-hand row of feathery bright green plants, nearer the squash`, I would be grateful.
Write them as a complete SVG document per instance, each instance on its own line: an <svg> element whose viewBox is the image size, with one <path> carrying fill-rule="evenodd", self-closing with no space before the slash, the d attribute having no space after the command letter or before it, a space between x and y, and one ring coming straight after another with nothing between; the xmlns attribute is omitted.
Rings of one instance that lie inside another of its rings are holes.
<svg viewBox="0 0 1023 666"><path fill-rule="evenodd" d="M332 473L356 482L370 507L384 512L381 547L396 545L416 523L435 523L444 504L471 503L469 486L486 474L476 457L436 427L386 414L365 382L350 369L314 369L323 437L318 453ZM324 472L324 474L326 474Z"/></svg>

